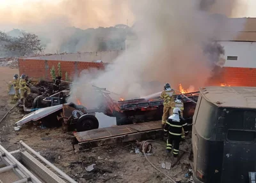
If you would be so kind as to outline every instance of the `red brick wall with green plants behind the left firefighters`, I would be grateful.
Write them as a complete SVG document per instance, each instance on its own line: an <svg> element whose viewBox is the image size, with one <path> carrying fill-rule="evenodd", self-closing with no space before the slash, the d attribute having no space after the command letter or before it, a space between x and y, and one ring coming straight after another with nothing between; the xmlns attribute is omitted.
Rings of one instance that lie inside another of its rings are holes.
<svg viewBox="0 0 256 183"><path fill-rule="evenodd" d="M50 70L55 67L58 70L58 62L61 64L62 77L65 79L67 72L68 78L72 79L78 76L83 70L96 68L104 70L106 63L96 62L74 62L74 61L44 61L36 59L19 59L19 74L26 74L32 78L51 78Z"/></svg>

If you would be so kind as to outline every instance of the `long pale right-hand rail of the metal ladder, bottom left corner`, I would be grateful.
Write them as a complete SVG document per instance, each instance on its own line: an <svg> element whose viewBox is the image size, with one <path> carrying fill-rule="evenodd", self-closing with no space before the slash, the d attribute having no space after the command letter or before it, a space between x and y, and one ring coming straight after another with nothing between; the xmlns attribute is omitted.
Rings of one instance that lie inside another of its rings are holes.
<svg viewBox="0 0 256 183"><path fill-rule="evenodd" d="M66 173L62 172L59 168L52 165L47 159L45 159L43 156L38 154L35 150L33 150L31 147L29 147L26 143L24 143L22 140L20 140L20 144L23 145L26 149L28 149L31 153L33 153L36 157L44 161L45 164L49 165L53 170L58 172L62 177L64 177L66 180L68 180L70 183L77 183L74 179L69 177Z"/></svg>

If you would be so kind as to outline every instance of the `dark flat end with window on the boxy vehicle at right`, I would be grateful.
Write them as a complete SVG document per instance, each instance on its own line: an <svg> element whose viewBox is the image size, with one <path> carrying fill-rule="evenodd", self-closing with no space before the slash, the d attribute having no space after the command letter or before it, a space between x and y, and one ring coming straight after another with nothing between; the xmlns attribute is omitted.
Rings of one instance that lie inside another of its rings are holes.
<svg viewBox="0 0 256 183"><path fill-rule="evenodd" d="M221 182L249 182L248 172L256 171L255 125L255 110L228 111Z"/></svg>

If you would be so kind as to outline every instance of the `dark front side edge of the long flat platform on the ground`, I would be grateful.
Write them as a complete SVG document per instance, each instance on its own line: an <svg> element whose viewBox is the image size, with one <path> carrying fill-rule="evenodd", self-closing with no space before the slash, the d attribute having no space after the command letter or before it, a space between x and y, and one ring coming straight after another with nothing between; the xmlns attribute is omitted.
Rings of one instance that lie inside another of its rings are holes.
<svg viewBox="0 0 256 183"><path fill-rule="evenodd" d="M79 150L90 149L93 147L99 147L104 145L118 144L123 142L131 142L134 140L148 140L148 139L163 138L163 129L154 129L151 131L143 131L138 133L131 133L128 135L111 136L109 138L102 138L98 140L80 142Z"/></svg>

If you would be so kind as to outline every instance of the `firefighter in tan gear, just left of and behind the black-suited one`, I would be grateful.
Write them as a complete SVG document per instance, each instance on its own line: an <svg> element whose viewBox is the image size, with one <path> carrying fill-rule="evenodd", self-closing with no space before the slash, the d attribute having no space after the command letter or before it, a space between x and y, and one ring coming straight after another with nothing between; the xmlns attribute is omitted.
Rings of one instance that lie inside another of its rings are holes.
<svg viewBox="0 0 256 183"><path fill-rule="evenodd" d="M166 119L170 115L172 115L172 105L174 103L174 94L175 94L175 91L173 89L171 89L170 84L166 83L164 85L164 91L161 93L161 99L164 100L162 127L164 127Z"/></svg>

